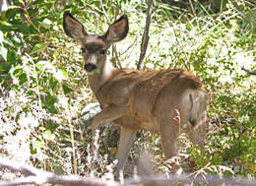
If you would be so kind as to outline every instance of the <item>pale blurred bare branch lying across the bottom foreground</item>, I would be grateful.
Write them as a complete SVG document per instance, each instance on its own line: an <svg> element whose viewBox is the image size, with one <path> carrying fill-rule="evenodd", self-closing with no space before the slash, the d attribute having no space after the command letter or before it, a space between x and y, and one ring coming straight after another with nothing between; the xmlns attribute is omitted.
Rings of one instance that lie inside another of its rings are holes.
<svg viewBox="0 0 256 186"><path fill-rule="evenodd" d="M0 186L16 186L26 184L58 184L58 185L72 185L72 186L121 186L114 181L101 181L93 178L82 178L74 175L56 175L54 173L39 170L25 164L18 164L7 159L0 158L0 168L8 168L12 171L19 171L28 175L13 181L2 181ZM168 178L162 175L152 175L150 177L136 177L124 181L124 186L135 186L142 184L170 185L174 182L181 184L206 184L206 185L237 185L237 186L255 186L256 180L245 179L241 177L224 178L218 175L177 175L169 174Z"/></svg>

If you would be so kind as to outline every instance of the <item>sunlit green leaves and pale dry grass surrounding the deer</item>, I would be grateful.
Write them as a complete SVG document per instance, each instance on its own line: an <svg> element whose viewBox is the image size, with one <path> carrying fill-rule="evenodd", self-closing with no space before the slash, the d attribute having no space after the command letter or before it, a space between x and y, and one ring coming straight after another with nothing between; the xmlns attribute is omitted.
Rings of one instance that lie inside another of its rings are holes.
<svg viewBox="0 0 256 186"><path fill-rule="evenodd" d="M136 68L147 1L8 3L8 8L1 7L0 20L0 156L57 174L112 178L118 129L101 127L93 156L88 114L96 111L96 104L90 104L96 99L83 70L80 46L64 34L62 16L71 11L89 32L103 33L126 13L128 37L117 44L117 53L109 50L109 57L119 67ZM255 18L253 0L154 1L143 68L184 68L199 76L209 93L210 131L205 150L181 136L179 155L168 160L158 135L138 133L127 176L141 163L151 173L179 167L195 176L256 178L256 79L241 70L256 70ZM84 109L87 105L91 111ZM17 176L1 171L1 180Z"/></svg>

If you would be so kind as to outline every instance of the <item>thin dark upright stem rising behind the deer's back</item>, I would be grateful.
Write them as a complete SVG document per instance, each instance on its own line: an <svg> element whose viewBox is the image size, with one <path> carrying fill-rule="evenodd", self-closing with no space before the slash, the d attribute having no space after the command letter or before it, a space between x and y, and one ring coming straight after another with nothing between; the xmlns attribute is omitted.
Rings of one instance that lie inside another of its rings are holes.
<svg viewBox="0 0 256 186"><path fill-rule="evenodd" d="M145 27L145 31L144 31L143 37L142 37L141 54L140 54L139 63L137 65L138 70L142 69L142 62L144 60L146 50L147 50L147 47L148 47L149 30L150 30L150 24L151 24L151 14L152 14L152 0L148 0L148 11L147 11L147 18L146 18L146 27Z"/></svg>

